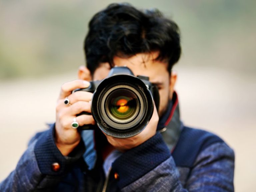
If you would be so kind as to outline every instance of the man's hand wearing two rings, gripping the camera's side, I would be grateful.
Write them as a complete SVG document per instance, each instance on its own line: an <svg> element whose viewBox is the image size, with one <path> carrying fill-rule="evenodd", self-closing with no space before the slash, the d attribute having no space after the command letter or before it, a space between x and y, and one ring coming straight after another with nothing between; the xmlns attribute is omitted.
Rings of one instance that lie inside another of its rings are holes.
<svg viewBox="0 0 256 192"><path fill-rule="evenodd" d="M77 129L71 126L73 119L76 118L79 126L95 124L92 115L76 116L83 111L91 113L92 93L77 91L71 94L74 89L87 88L89 85L88 81L74 80L63 84L61 87L56 107L55 143L64 156L67 156L79 144L81 139ZM66 97L70 101L69 105L64 103Z"/></svg>

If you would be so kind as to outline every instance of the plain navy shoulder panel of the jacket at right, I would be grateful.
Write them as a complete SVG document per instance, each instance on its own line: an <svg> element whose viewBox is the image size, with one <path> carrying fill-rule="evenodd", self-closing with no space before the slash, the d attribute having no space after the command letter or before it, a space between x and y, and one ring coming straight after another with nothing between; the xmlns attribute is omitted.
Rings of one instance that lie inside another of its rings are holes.
<svg viewBox="0 0 256 192"><path fill-rule="evenodd" d="M220 144L226 150L230 148L217 135L201 129L184 127L172 156L177 166L193 167L200 154ZM230 149L231 150L231 149ZM218 152L215 151L217 155Z"/></svg>

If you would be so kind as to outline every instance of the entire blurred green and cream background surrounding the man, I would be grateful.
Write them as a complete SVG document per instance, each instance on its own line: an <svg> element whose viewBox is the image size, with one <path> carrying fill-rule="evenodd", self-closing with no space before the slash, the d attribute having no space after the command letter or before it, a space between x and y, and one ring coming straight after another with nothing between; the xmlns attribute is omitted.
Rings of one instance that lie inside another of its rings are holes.
<svg viewBox="0 0 256 192"><path fill-rule="evenodd" d="M112 2L0 0L0 180L29 138L54 122L60 86L85 63L88 21ZM221 136L235 150L236 191L255 191L256 1L126 2L179 25L182 120Z"/></svg>

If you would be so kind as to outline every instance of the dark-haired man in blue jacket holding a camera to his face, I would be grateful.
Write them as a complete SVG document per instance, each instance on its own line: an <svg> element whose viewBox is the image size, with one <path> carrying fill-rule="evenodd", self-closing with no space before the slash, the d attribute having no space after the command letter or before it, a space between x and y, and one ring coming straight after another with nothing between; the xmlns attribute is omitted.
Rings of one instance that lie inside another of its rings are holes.
<svg viewBox="0 0 256 192"><path fill-rule="evenodd" d="M159 11L111 4L89 23L87 67L62 85L56 123L29 143L0 191L234 191L234 153L219 137L185 127L174 91L178 26ZM158 85L160 105L145 129L130 138L102 133L90 114L90 80L127 66ZM72 93L72 94L71 94ZM79 132L78 125L95 125ZM73 126L73 127L72 127Z"/></svg>

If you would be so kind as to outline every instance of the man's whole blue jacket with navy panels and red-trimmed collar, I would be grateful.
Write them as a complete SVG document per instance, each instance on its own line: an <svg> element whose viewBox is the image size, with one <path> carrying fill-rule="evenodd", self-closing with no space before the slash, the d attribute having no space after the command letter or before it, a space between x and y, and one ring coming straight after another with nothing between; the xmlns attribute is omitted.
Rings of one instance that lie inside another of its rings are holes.
<svg viewBox="0 0 256 192"><path fill-rule="evenodd" d="M115 151L103 162L98 151L104 137L95 131L94 140L81 140L63 156L54 142L53 124L30 141L0 191L234 191L233 150L212 133L184 126L176 94L158 132L143 144Z"/></svg>

